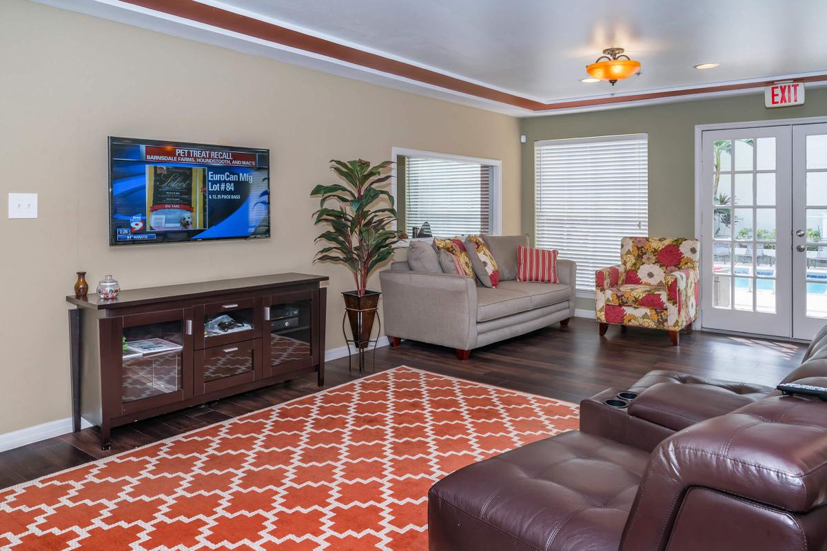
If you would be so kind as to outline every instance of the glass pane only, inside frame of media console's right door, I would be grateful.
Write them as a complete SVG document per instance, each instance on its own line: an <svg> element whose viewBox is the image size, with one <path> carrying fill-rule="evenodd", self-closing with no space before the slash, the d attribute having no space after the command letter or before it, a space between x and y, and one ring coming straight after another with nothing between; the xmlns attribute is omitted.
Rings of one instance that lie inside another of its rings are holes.
<svg viewBox="0 0 827 551"><path fill-rule="evenodd" d="M270 364L292 362L311 355L311 302L270 306Z"/></svg>

